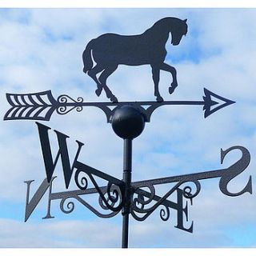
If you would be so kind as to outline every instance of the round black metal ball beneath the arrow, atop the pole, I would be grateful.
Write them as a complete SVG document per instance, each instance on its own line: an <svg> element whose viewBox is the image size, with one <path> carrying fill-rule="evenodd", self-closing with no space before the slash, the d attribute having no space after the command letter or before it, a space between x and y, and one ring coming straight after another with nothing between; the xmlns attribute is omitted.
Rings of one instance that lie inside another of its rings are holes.
<svg viewBox="0 0 256 256"><path fill-rule="evenodd" d="M121 106L114 111L110 122L114 133L121 138L136 138L145 127L144 114L134 106Z"/></svg>

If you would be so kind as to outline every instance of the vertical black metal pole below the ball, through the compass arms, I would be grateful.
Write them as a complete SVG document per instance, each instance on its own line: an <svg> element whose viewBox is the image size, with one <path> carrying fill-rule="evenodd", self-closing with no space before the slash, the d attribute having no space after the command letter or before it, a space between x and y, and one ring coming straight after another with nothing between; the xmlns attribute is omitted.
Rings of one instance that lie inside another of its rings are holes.
<svg viewBox="0 0 256 256"><path fill-rule="evenodd" d="M132 139L124 139L123 145L123 176L125 182L125 204L122 208L122 248L128 248L128 230L130 214L130 182L132 162Z"/></svg>

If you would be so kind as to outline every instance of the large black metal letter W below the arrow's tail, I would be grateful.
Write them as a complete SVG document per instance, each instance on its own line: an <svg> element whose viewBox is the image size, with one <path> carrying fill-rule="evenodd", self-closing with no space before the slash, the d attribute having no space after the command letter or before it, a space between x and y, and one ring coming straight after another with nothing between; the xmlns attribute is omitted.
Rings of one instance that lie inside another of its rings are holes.
<svg viewBox="0 0 256 256"><path fill-rule="evenodd" d="M49 134L48 134L48 130L50 130L51 128L48 126L44 126L39 122L36 122L36 124L38 125L38 132L39 132L39 138L40 138L40 142L41 142L42 155L43 155L43 160L44 160L45 167L46 167L47 181L50 182L50 179L52 178L52 176L54 174L54 169L56 167L58 159L61 158L63 174L64 174L64 178L65 178L65 185L66 185L66 189L67 189L70 185L70 179L71 179L71 176L72 176L72 173L74 170L74 163L77 161L78 155L79 155L81 148L84 144L82 142L76 141L78 143L78 150L74 157L74 162L73 162L72 166L70 166L70 158L69 158L69 153L68 153L67 145L66 145L66 138L70 138L70 137L67 136L66 134L62 134L62 133L58 132L58 130L54 130L54 132L57 134L59 148L58 148L57 156L56 156L55 160L53 160L53 155L52 155L51 149L50 149Z"/></svg>

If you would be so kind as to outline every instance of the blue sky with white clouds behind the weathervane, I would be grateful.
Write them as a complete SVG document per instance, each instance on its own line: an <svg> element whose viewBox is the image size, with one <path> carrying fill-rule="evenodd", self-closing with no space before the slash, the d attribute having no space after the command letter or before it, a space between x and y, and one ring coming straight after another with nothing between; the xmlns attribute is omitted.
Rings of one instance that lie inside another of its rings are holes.
<svg viewBox="0 0 256 256"><path fill-rule="evenodd" d="M218 170L232 165L239 152L226 156L221 149L244 146L250 166L229 184L236 193L250 175L253 194L228 197L219 190L219 179L202 181L202 190L189 203L194 233L178 230L176 213L167 222L155 210L145 222L130 218L130 247L254 247L256 246L256 10L254 9L2 9L0 10L0 115L10 108L6 93L26 94L51 90L54 98L69 94L88 102L106 102L94 94L96 84L82 73L82 51L100 34L141 34L164 17L187 18L188 34L179 46L166 44L166 62L178 72L178 88L168 94L170 74L161 72L160 91L166 100L202 100L203 88L236 103L203 117L202 106L162 106L134 140L133 181ZM108 79L119 101L154 101L150 66L118 66ZM38 130L34 121L0 121L0 247L119 247L122 217L98 218L75 202L64 214L59 201L46 216L47 195L24 222L26 183L31 195L45 178ZM122 139L101 110L93 107L66 115L54 112L53 130L85 146L81 162L122 178ZM52 134L52 145L56 140ZM53 191L65 191L61 165ZM74 182L73 182L74 183ZM173 186L159 186L164 194ZM71 184L70 189L74 188ZM175 199L175 198L171 198ZM97 206L97 198L85 197Z"/></svg>

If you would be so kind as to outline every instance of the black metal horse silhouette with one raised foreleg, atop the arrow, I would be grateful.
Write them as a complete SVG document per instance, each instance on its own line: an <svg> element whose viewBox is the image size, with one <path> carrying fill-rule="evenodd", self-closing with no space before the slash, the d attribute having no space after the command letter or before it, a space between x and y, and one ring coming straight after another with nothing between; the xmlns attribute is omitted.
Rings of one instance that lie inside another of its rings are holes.
<svg viewBox="0 0 256 256"><path fill-rule="evenodd" d="M106 79L112 74L118 65L150 65L154 81L154 95L158 102L163 98L159 94L158 83L160 70L170 72L173 82L169 93L172 94L178 86L176 70L173 66L166 64L166 42L171 34L171 43L178 46L183 35L187 33L186 19L167 17L155 22L150 29L138 35L102 34L91 40L82 54L84 63L83 72L87 73L97 83L95 93L99 96L102 89L111 102L118 102L106 86ZM95 65L94 65L94 62ZM99 74L97 78L97 74Z"/></svg>

